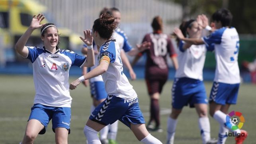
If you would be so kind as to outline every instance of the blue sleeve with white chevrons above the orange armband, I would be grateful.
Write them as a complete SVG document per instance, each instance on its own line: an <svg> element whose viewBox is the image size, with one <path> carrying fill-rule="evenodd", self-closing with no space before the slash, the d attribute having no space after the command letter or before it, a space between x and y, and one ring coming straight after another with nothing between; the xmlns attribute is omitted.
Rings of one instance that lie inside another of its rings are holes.
<svg viewBox="0 0 256 144"><path fill-rule="evenodd" d="M110 58L110 62L115 62L115 42L110 42L109 45L104 45L100 48L100 58L102 56L108 56Z"/></svg>

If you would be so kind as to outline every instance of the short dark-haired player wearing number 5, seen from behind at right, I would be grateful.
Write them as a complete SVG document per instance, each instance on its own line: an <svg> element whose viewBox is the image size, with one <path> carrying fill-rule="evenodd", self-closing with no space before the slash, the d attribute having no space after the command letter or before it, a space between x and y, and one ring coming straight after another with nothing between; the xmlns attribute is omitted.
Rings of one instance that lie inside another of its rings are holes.
<svg viewBox="0 0 256 144"><path fill-rule="evenodd" d="M205 44L207 49L214 49L216 59L215 78L210 94L210 115L219 122L218 144L224 144L231 128L225 126L227 113L231 104L236 104L240 85L238 67L239 36L235 27L230 27L232 14L222 8L212 15L215 31L202 39L185 38L179 29L174 33L188 44ZM232 125L232 122L230 122ZM242 144L248 133L245 130L231 130L238 134L236 144ZM243 135L243 136L242 136Z"/></svg>

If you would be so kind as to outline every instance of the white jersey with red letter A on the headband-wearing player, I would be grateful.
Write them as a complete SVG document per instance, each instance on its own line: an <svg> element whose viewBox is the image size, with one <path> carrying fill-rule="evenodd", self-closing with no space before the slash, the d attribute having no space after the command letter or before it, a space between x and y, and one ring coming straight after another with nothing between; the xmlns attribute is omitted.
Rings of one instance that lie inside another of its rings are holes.
<svg viewBox="0 0 256 144"><path fill-rule="evenodd" d="M27 47L27 58L32 62L35 85L34 104L52 107L71 107L68 72L70 66L84 65L85 56L69 50L57 50L52 54L44 47Z"/></svg>

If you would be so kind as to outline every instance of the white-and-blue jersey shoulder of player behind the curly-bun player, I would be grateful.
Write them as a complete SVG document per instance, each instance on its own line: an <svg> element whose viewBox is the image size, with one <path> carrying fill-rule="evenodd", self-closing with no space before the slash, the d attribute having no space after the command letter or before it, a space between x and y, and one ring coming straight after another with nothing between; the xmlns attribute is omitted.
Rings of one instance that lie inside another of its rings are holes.
<svg viewBox="0 0 256 144"><path fill-rule="evenodd" d="M120 49L123 49L125 52L131 51L133 47L129 44L127 37L121 29L116 29L113 32L112 39L115 39L115 41L118 43Z"/></svg>

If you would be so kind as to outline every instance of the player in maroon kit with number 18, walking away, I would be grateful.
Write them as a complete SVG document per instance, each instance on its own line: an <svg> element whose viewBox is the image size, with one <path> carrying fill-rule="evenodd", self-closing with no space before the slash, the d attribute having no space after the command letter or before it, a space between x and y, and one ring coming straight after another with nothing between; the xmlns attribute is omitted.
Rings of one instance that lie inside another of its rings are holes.
<svg viewBox="0 0 256 144"><path fill-rule="evenodd" d="M168 79L167 56L170 56L175 69L178 68L178 62L170 37L162 33L162 18L154 17L151 26L153 32L146 34L143 39L143 42L150 42L150 49L139 53L133 60L133 64L139 60L143 53L147 54L145 80L150 95L150 120L147 128L148 130L162 132L158 100ZM155 125L152 122L155 122Z"/></svg>

